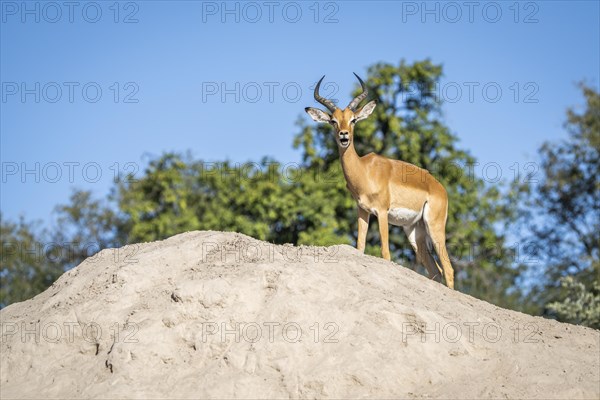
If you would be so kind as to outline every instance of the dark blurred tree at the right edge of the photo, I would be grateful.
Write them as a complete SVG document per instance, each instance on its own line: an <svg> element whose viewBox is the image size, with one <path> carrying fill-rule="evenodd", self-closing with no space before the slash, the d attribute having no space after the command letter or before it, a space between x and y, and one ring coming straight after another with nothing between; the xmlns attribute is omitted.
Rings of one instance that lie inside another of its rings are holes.
<svg viewBox="0 0 600 400"><path fill-rule="evenodd" d="M586 105L567 110L567 139L541 146L541 178L519 188L520 219L539 260L530 301L546 316L598 328L600 95L580 87Z"/></svg>

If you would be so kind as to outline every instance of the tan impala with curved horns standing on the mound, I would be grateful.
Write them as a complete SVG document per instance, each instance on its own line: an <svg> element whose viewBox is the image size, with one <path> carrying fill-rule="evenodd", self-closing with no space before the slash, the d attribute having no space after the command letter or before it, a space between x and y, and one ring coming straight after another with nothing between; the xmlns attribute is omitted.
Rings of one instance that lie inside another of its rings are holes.
<svg viewBox="0 0 600 400"><path fill-rule="evenodd" d="M448 195L429 172L404 161L392 160L369 153L360 157L354 149L354 126L367 118L375 109L370 101L358 107L367 97L368 90L360 77L354 74L362 93L348 107L340 109L333 101L319 95L323 76L315 87L315 100L327 107L330 113L306 107L306 112L316 122L331 124L340 152L346 186L358 205L358 239L356 247L365 250L369 216L374 214L379 222L381 255L390 259L388 224L401 226L413 247L417 260L427 268L429 277L441 282L443 273L446 285L454 288L454 270L446 250L446 218ZM440 265L433 257L435 249Z"/></svg>

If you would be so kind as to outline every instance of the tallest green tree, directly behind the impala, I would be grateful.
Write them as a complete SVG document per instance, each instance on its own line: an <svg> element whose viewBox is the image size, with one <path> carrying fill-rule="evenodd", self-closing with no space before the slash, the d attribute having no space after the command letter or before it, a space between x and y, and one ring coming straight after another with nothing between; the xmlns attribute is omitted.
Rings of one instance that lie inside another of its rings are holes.
<svg viewBox="0 0 600 400"><path fill-rule="evenodd" d="M359 155L375 152L404 160L429 170L440 180L449 195L446 231L457 289L514 308L519 299L514 286L519 271L511 267L513 251L496 226L512 218L511 201L499 188L474 176L475 158L458 147L457 136L444 125L442 101L435 93L441 76L442 66L430 60L370 67L366 83L370 98L378 105L371 117L357 124L355 147ZM305 167L337 168L335 173L343 181L331 127L304 121L308 119L300 122L294 145L301 148ZM350 198L343 189L339 196ZM356 209L353 202L346 205L337 207L338 219L344 224L340 231L352 235L354 241ZM367 251L379 254L376 222L370 224L367 241ZM391 228L390 251L392 257L414 265L412 248L400 228Z"/></svg>

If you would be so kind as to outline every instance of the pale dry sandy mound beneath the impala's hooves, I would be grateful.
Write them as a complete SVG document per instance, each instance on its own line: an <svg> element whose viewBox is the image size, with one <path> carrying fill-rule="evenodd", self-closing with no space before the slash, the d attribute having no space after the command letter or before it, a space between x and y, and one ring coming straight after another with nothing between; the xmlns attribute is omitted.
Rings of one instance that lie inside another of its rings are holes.
<svg viewBox="0 0 600 400"><path fill-rule="evenodd" d="M600 398L600 331L349 246L188 232L0 312L1 398Z"/></svg>

